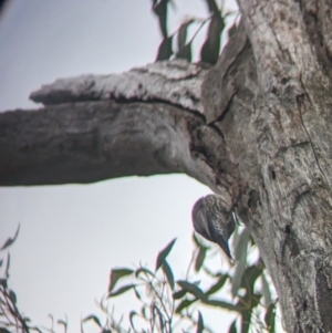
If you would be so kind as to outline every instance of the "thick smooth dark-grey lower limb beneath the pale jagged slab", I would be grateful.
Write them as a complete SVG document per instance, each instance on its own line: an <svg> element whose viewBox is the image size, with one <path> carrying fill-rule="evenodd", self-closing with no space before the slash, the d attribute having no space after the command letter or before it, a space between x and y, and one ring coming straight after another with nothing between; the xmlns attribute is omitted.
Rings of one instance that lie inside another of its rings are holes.
<svg viewBox="0 0 332 333"><path fill-rule="evenodd" d="M186 125L203 119L183 113L170 105L114 101L2 113L0 184L92 183L190 173Z"/></svg>

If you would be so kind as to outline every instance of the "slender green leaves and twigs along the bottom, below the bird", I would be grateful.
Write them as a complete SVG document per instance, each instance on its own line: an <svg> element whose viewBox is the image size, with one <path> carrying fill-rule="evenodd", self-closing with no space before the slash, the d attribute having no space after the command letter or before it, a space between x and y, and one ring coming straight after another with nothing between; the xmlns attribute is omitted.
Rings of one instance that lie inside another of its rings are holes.
<svg viewBox="0 0 332 333"><path fill-rule="evenodd" d="M1 251L13 243L18 231ZM224 264L224 271L219 270L220 262L216 264L221 251L194 235L195 248L184 279L175 278L168 259L175 241L158 253L155 270L142 264L135 269L112 269L107 293L98 304L101 314L90 314L82 320L81 332L84 333L86 322L93 322L101 333L212 333L204 314L208 308L234 313L232 324L226 327L220 322L218 332L276 332L277 302L272 301L269 278L262 261L257 260L257 248L247 229L237 227L232 237L235 261ZM0 266L3 263L1 260ZM51 315L52 326L46 329L32 325L30 319L20 313L15 293L8 288L9 266L8 254L0 280L0 333L54 333ZM139 303L138 310L128 313L129 327L125 327L123 319L114 318L111 308L114 298L126 292L133 292ZM58 324L66 332L66 320Z"/></svg>

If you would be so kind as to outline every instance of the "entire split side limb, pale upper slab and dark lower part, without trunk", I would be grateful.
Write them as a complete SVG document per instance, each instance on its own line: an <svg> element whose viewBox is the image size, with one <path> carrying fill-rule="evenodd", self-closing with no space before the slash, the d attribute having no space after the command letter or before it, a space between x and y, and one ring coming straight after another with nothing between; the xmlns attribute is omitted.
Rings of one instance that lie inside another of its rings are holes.
<svg viewBox="0 0 332 333"><path fill-rule="evenodd" d="M0 185L186 173L232 207L234 166L219 129L203 115L206 73L176 60L42 86L31 98L44 108L0 114Z"/></svg>

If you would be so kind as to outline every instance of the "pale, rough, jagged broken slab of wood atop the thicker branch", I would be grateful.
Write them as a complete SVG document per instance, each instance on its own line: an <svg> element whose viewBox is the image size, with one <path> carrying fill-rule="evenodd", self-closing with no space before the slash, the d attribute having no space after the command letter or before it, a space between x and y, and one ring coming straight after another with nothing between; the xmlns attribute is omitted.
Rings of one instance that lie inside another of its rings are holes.
<svg viewBox="0 0 332 333"><path fill-rule="evenodd" d="M31 93L30 98L44 105L97 100L157 101L203 113L200 86L206 72L201 65L176 59L122 74L59 79Z"/></svg>

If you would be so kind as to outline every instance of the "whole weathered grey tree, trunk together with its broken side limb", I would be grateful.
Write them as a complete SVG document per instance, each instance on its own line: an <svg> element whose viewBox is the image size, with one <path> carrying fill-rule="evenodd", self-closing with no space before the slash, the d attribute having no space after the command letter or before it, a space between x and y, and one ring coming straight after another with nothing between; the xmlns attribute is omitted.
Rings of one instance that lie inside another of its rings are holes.
<svg viewBox="0 0 332 333"><path fill-rule="evenodd" d="M1 114L0 184L187 173L248 227L287 331L332 332L332 7L239 2L242 23L208 71L68 80L32 94L44 108Z"/></svg>

